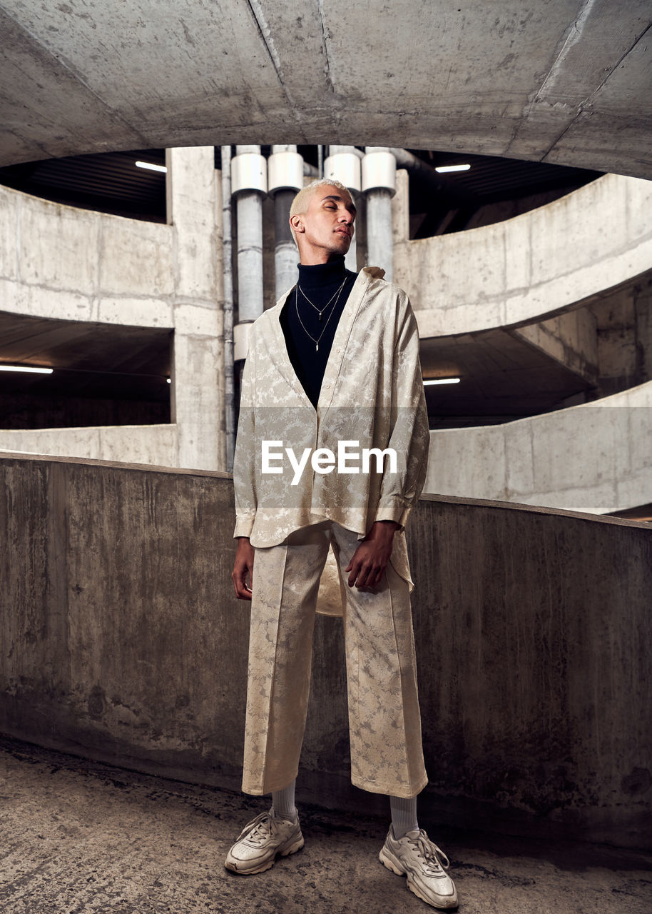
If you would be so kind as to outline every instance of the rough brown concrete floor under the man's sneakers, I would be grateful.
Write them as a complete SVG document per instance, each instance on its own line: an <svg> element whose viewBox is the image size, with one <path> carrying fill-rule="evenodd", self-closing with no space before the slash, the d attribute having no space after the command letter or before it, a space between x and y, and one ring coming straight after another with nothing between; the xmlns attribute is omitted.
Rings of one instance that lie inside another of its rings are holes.
<svg viewBox="0 0 652 914"><path fill-rule="evenodd" d="M430 910L379 863L377 819L302 805L303 850L238 877L222 861L262 798L0 739L0 800L0 911L11 914ZM421 824L451 858L465 914L652 911L650 853Z"/></svg>

